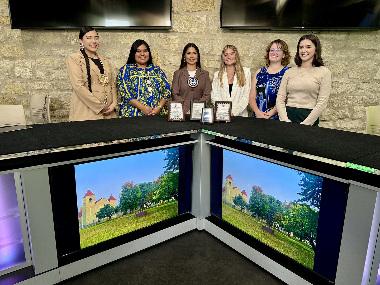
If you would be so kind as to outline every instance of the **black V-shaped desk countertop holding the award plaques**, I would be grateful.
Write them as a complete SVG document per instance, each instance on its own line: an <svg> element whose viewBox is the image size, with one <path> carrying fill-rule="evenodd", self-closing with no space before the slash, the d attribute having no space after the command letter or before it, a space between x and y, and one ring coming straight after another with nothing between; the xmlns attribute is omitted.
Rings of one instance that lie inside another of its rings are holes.
<svg viewBox="0 0 380 285"><path fill-rule="evenodd" d="M204 129L380 169L380 136L250 117L232 117L231 123L213 125L190 122L189 119L190 116L186 115L186 122L168 122L168 117L162 115L33 125L27 130L0 133L0 157L33 150Z"/></svg>

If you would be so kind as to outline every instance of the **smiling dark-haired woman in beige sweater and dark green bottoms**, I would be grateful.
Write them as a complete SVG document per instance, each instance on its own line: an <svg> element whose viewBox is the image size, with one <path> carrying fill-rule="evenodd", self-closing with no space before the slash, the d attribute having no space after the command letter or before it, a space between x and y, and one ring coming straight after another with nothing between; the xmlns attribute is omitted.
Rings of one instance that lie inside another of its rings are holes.
<svg viewBox="0 0 380 285"><path fill-rule="evenodd" d="M298 41L297 67L285 71L276 107L281 121L318 126L331 90L331 72L324 67L321 43L315 35Z"/></svg>

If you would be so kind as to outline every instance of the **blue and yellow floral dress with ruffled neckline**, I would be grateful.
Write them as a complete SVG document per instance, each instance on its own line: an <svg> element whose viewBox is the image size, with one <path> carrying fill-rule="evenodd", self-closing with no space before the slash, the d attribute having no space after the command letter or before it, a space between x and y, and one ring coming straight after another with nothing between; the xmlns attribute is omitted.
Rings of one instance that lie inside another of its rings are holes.
<svg viewBox="0 0 380 285"><path fill-rule="evenodd" d="M148 71L152 95L149 95L146 83ZM139 68L135 63L124 65L117 74L116 86L121 96L120 117L144 115L140 109L129 104L129 100L137 99L142 105L150 106L153 109L160 104L161 99L168 100L171 94L170 84L165 73L161 68L151 64L148 64L145 69ZM166 105L160 114L168 114Z"/></svg>

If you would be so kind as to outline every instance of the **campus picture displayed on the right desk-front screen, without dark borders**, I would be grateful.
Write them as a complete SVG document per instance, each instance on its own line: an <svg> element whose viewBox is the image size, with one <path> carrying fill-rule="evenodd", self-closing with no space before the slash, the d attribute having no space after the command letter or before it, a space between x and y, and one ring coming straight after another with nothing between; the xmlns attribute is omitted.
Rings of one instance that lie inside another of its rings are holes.
<svg viewBox="0 0 380 285"><path fill-rule="evenodd" d="M223 220L313 269L323 179L229 150L223 177Z"/></svg>

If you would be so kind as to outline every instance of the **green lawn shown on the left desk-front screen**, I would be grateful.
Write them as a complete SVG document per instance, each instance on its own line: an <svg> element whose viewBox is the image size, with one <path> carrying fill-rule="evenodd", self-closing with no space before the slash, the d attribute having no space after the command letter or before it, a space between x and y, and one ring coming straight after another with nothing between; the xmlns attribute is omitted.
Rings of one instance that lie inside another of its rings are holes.
<svg viewBox="0 0 380 285"><path fill-rule="evenodd" d="M154 205L145 211L146 215L138 218L136 214L139 211L136 211L80 230L81 249L174 217L178 214L178 202L173 200L162 203L160 207Z"/></svg>

